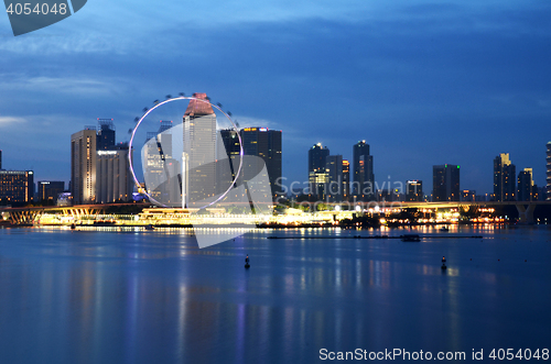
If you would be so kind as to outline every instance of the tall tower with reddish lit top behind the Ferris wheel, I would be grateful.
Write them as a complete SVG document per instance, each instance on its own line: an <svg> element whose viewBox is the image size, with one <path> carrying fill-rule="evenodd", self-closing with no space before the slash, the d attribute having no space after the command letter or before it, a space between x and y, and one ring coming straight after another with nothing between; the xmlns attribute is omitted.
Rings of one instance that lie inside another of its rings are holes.
<svg viewBox="0 0 551 364"><path fill-rule="evenodd" d="M216 192L216 114L206 93L193 93L184 113L185 202L204 206ZM205 100L205 101L201 101Z"/></svg>

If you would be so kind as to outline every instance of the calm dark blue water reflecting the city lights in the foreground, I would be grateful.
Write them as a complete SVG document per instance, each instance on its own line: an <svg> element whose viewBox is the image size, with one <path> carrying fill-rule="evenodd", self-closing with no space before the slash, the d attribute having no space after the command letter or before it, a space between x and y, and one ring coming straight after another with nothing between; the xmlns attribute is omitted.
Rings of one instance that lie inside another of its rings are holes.
<svg viewBox="0 0 551 364"><path fill-rule="evenodd" d="M199 250L182 230L3 229L0 363L315 363L323 348L467 359L473 349L551 348L548 227L417 232L433 239L261 231ZM446 238L473 234L484 239Z"/></svg>

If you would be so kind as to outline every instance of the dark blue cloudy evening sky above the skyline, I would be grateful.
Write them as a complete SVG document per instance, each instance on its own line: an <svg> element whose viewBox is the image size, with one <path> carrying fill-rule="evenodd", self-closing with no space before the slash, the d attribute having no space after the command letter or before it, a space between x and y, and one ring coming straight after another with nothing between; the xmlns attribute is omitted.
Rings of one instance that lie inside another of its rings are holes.
<svg viewBox="0 0 551 364"><path fill-rule="evenodd" d="M551 141L551 3L541 1L90 0L14 37L0 16L4 168L69 178L71 134L114 118L118 140L168 93L207 92L242 125L283 131L283 175L306 178L322 142L375 177L422 179L460 164L464 189L491 192L510 153L544 185Z"/></svg>

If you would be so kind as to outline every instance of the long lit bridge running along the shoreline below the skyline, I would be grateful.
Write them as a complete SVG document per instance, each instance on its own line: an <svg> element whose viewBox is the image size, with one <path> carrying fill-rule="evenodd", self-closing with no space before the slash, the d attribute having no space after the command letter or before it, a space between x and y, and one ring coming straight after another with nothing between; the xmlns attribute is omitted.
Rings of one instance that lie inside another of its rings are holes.
<svg viewBox="0 0 551 364"><path fill-rule="evenodd" d="M369 209L379 207L380 209L386 208L417 208L417 209L463 209L467 211L469 207L475 206L478 208L488 207L503 207L503 206L515 206L519 212L520 223L533 223L533 211L537 206L551 206L551 201L442 201L442 202L410 202L410 201L369 201L369 202L302 202L305 206L313 206L315 203L324 203L326 206L339 206L343 210L354 210L357 206L361 209ZM300 203L301 205L301 203ZM22 208L1 208L0 207L0 221L4 217L4 213L9 213L9 220L13 224L33 224L40 220L40 217L44 213L55 213L66 217L73 217L78 219L80 217L87 216L98 216L102 214L107 209L111 207L141 207L149 208L149 203L105 203L105 205L76 205L76 206L46 206L46 207L22 207Z"/></svg>

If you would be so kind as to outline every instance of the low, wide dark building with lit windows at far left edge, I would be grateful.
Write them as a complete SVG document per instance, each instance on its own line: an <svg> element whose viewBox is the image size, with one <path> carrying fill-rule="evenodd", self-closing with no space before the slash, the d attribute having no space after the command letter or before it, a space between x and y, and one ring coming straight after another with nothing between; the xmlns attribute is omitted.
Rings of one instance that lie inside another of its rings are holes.
<svg viewBox="0 0 551 364"><path fill-rule="evenodd" d="M32 170L0 170L0 203L28 203L34 197Z"/></svg>

